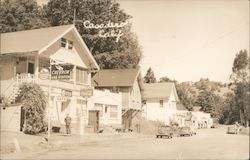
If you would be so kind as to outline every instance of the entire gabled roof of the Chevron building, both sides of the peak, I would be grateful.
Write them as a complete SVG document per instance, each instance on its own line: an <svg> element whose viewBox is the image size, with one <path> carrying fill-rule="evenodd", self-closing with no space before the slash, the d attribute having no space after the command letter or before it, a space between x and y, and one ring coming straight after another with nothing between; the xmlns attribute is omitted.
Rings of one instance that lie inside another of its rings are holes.
<svg viewBox="0 0 250 160"><path fill-rule="evenodd" d="M99 69L93 55L90 53L88 47L82 40L79 32L74 25L63 25L56 27L40 28L33 30L25 30L18 32L9 32L0 34L1 45L0 54L14 54L14 53L38 53L41 54L46 49L62 38L69 32L73 32L76 39L90 60L93 68Z"/></svg>

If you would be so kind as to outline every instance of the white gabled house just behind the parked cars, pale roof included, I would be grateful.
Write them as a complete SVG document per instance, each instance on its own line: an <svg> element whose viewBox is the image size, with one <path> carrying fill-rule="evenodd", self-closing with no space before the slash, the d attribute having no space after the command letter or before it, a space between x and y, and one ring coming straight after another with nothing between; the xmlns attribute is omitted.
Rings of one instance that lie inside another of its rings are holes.
<svg viewBox="0 0 250 160"><path fill-rule="evenodd" d="M179 101L174 83L144 83L143 116L170 125Z"/></svg>

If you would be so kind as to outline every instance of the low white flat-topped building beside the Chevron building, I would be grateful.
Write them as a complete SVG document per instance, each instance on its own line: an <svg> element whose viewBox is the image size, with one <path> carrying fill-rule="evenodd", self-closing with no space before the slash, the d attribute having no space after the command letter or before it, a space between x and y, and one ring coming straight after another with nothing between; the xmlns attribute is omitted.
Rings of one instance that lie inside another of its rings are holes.
<svg viewBox="0 0 250 160"><path fill-rule="evenodd" d="M88 111L88 132L112 132L122 128L121 93L95 89L93 96L88 99Z"/></svg>

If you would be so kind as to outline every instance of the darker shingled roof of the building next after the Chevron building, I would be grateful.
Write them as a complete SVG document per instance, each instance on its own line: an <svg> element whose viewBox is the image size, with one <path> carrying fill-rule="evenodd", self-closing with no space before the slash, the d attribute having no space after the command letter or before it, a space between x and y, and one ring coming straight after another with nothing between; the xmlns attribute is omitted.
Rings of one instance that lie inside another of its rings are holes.
<svg viewBox="0 0 250 160"><path fill-rule="evenodd" d="M92 78L96 87L130 87L139 76L140 69L104 69Z"/></svg>

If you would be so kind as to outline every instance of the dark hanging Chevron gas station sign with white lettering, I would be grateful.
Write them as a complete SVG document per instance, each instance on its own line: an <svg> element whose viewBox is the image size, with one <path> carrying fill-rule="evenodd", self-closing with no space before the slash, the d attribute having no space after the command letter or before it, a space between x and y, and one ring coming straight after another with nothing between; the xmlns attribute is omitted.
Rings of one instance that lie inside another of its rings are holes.
<svg viewBox="0 0 250 160"><path fill-rule="evenodd" d="M72 69L73 65L51 65L51 79L70 79L70 73Z"/></svg>

